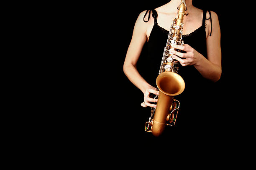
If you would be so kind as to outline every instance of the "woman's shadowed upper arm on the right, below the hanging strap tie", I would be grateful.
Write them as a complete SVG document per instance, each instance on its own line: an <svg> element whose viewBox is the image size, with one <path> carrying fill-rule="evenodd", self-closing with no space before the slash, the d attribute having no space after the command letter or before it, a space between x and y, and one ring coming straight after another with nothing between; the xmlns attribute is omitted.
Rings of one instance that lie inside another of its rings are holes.
<svg viewBox="0 0 256 170"><path fill-rule="evenodd" d="M207 13L207 15L208 16L206 16L206 18L209 18L209 13ZM210 62L218 65L221 69L220 24L218 20L218 15L215 12L211 11L211 17L212 25L210 24L210 20L205 21L208 28L206 38L207 58ZM211 29L212 34L210 36Z"/></svg>

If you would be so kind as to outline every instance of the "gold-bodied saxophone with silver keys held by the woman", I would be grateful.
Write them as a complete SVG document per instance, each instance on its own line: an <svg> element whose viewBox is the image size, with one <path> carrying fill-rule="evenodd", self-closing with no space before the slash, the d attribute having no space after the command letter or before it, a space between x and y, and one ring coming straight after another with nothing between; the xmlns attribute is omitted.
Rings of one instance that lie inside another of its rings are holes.
<svg viewBox="0 0 256 170"><path fill-rule="evenodd" d="M177 74L179 62L174 60L169 52L169 50L180 52L180 50L172 48L172 44L184 45L182 40L183 18L184 15L188 15L188 13L185 13L187 10L185 0L181 0L177 9L179 11L172 21L166 47L164 47L159 75L156 78L157 90L159 90L158 102L156 108L151 107L151 117L149 117L145 126L145 131L151 132L154 136L161 135L166 125L175 125L179 111L179 101L175 100L174 96L181 94L185 88L184 80Z"/></svg>

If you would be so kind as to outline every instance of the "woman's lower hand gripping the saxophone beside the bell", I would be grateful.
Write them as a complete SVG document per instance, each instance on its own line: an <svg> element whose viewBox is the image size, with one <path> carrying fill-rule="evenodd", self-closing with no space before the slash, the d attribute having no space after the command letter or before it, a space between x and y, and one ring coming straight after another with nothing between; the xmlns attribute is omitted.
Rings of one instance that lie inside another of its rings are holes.
<svg viewBox="0 0 256 170"><path fill-rule="evenodd" d="M157 91L155 87L153 87L153 86L148 87L148 88L146 89L146 91L144 92L144 102L141 103L141 106L142 106L142 107L148 107L148 106L150 106L150 107L156 107L155 104L149 103L149 102L157 102L157 98L154 99L154 98L151 98L151 97L150 97L150 94L151 94L151 93L152 93L152 94L155 94L155 95L159 95L159 91Z"/></svg>

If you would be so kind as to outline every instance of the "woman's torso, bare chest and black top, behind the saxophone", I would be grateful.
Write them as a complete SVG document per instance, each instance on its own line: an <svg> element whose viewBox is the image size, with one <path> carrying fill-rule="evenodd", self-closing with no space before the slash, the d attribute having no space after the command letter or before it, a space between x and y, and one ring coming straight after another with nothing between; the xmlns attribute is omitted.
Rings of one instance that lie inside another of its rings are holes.
<svg viewBox="0 0 256 170"><path fill-rule="evenodd" d="M155 10L158 16L157 24L154 23L152 16L146 22L147 53L140 58L140 63L142 64L138 64L141 75L154 87L156 87L156 77L159 75L159 67L168 38L169 27L177 13L176 10L176 13L168 14L161 7ZM209 18L209 16L207 12L206 18ZM148 15L146 16L147 18ZM195 22L191 22L192 20L195 20ZM189 15L184 17L183 40L185 44L190 45L207 58L206 39L210 34L211 23L210 20L205 20L205 27L202 21L203 10L195 8L195 10L190 11ZM178 73L184 79L186 87L182 94L175 97L182 105L179 111L179 122L176 126L191 128L195 126L195 120L199 122L198 125L201 125L202 122L205 122L205 117L202 115L205 115L205 108L209 105L207 97L212 96L210 82L202 77L193 65L180 66ZM197 107L200 107L200 109ZM195 117L195 113L197 113L198 117Z"/></svg>

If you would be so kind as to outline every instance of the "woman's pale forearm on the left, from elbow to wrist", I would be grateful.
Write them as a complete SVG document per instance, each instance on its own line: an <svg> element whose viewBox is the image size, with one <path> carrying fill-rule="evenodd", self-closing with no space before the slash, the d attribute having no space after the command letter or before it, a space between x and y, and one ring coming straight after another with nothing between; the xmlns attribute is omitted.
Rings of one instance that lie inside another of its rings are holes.
<svg viewBox="0 0 256 170"><path fill-rule="evenodd" d="M151 85L149 85L148 82L146 82L146 80L143 77L141 77L136 66L132 64L125 64L123 66L123 72L128 77L128 79L143 93L146 91L148 87L151 87Z"/></svg>

